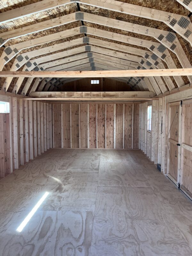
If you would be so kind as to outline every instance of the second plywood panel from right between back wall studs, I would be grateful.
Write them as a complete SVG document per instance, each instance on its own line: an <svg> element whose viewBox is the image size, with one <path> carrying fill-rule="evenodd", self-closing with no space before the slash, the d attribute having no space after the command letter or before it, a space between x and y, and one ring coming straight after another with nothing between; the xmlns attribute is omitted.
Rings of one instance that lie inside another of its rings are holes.
<svg viewBox="0 0 192 256"><path fill-rule="evenodd" d="M132 148L133 104L124 104L124 148Z"/></svg>

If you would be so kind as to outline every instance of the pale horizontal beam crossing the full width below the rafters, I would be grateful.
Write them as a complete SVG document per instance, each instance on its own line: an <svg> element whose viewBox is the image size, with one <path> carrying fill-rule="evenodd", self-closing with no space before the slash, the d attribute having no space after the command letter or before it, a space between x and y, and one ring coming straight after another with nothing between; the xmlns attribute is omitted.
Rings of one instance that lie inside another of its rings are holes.
<svg viewBox="0 0 192 256"><path fill-rule="evenodd" d="M191 76L192 68L100 71L0 71L0 77L136 77Z"/></svg>

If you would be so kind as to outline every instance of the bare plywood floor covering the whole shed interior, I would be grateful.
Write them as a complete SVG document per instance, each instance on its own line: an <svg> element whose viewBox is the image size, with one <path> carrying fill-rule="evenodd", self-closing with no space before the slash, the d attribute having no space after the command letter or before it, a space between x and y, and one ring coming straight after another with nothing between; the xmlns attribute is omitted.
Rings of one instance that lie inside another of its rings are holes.
<svg viewBox="0 0 192 256"><path fill-rule="evenodd" d="M192 203L140 150L51 149L0 180L0 255L189 256Z"/></svg>

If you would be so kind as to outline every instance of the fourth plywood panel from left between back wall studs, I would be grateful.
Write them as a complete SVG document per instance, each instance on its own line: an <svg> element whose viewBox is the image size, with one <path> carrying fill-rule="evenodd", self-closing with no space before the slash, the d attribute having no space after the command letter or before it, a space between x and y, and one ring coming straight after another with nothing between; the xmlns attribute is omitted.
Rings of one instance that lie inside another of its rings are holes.
<svg viewBox="0 0 192 256"><path fill-rule="evenodd" d="M87 148L88 104L80 104L80 148Z"/></svg>

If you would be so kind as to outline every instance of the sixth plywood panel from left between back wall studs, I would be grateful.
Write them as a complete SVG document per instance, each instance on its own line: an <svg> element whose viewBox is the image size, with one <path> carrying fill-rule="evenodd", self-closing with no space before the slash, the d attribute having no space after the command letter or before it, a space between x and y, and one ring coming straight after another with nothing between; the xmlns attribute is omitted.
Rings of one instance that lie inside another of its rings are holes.
<svg viewBox="0 0 192 256"><path fill-rule="evenodd" d="M105 148L105 105L97 104L97 147Z"/></svg>

